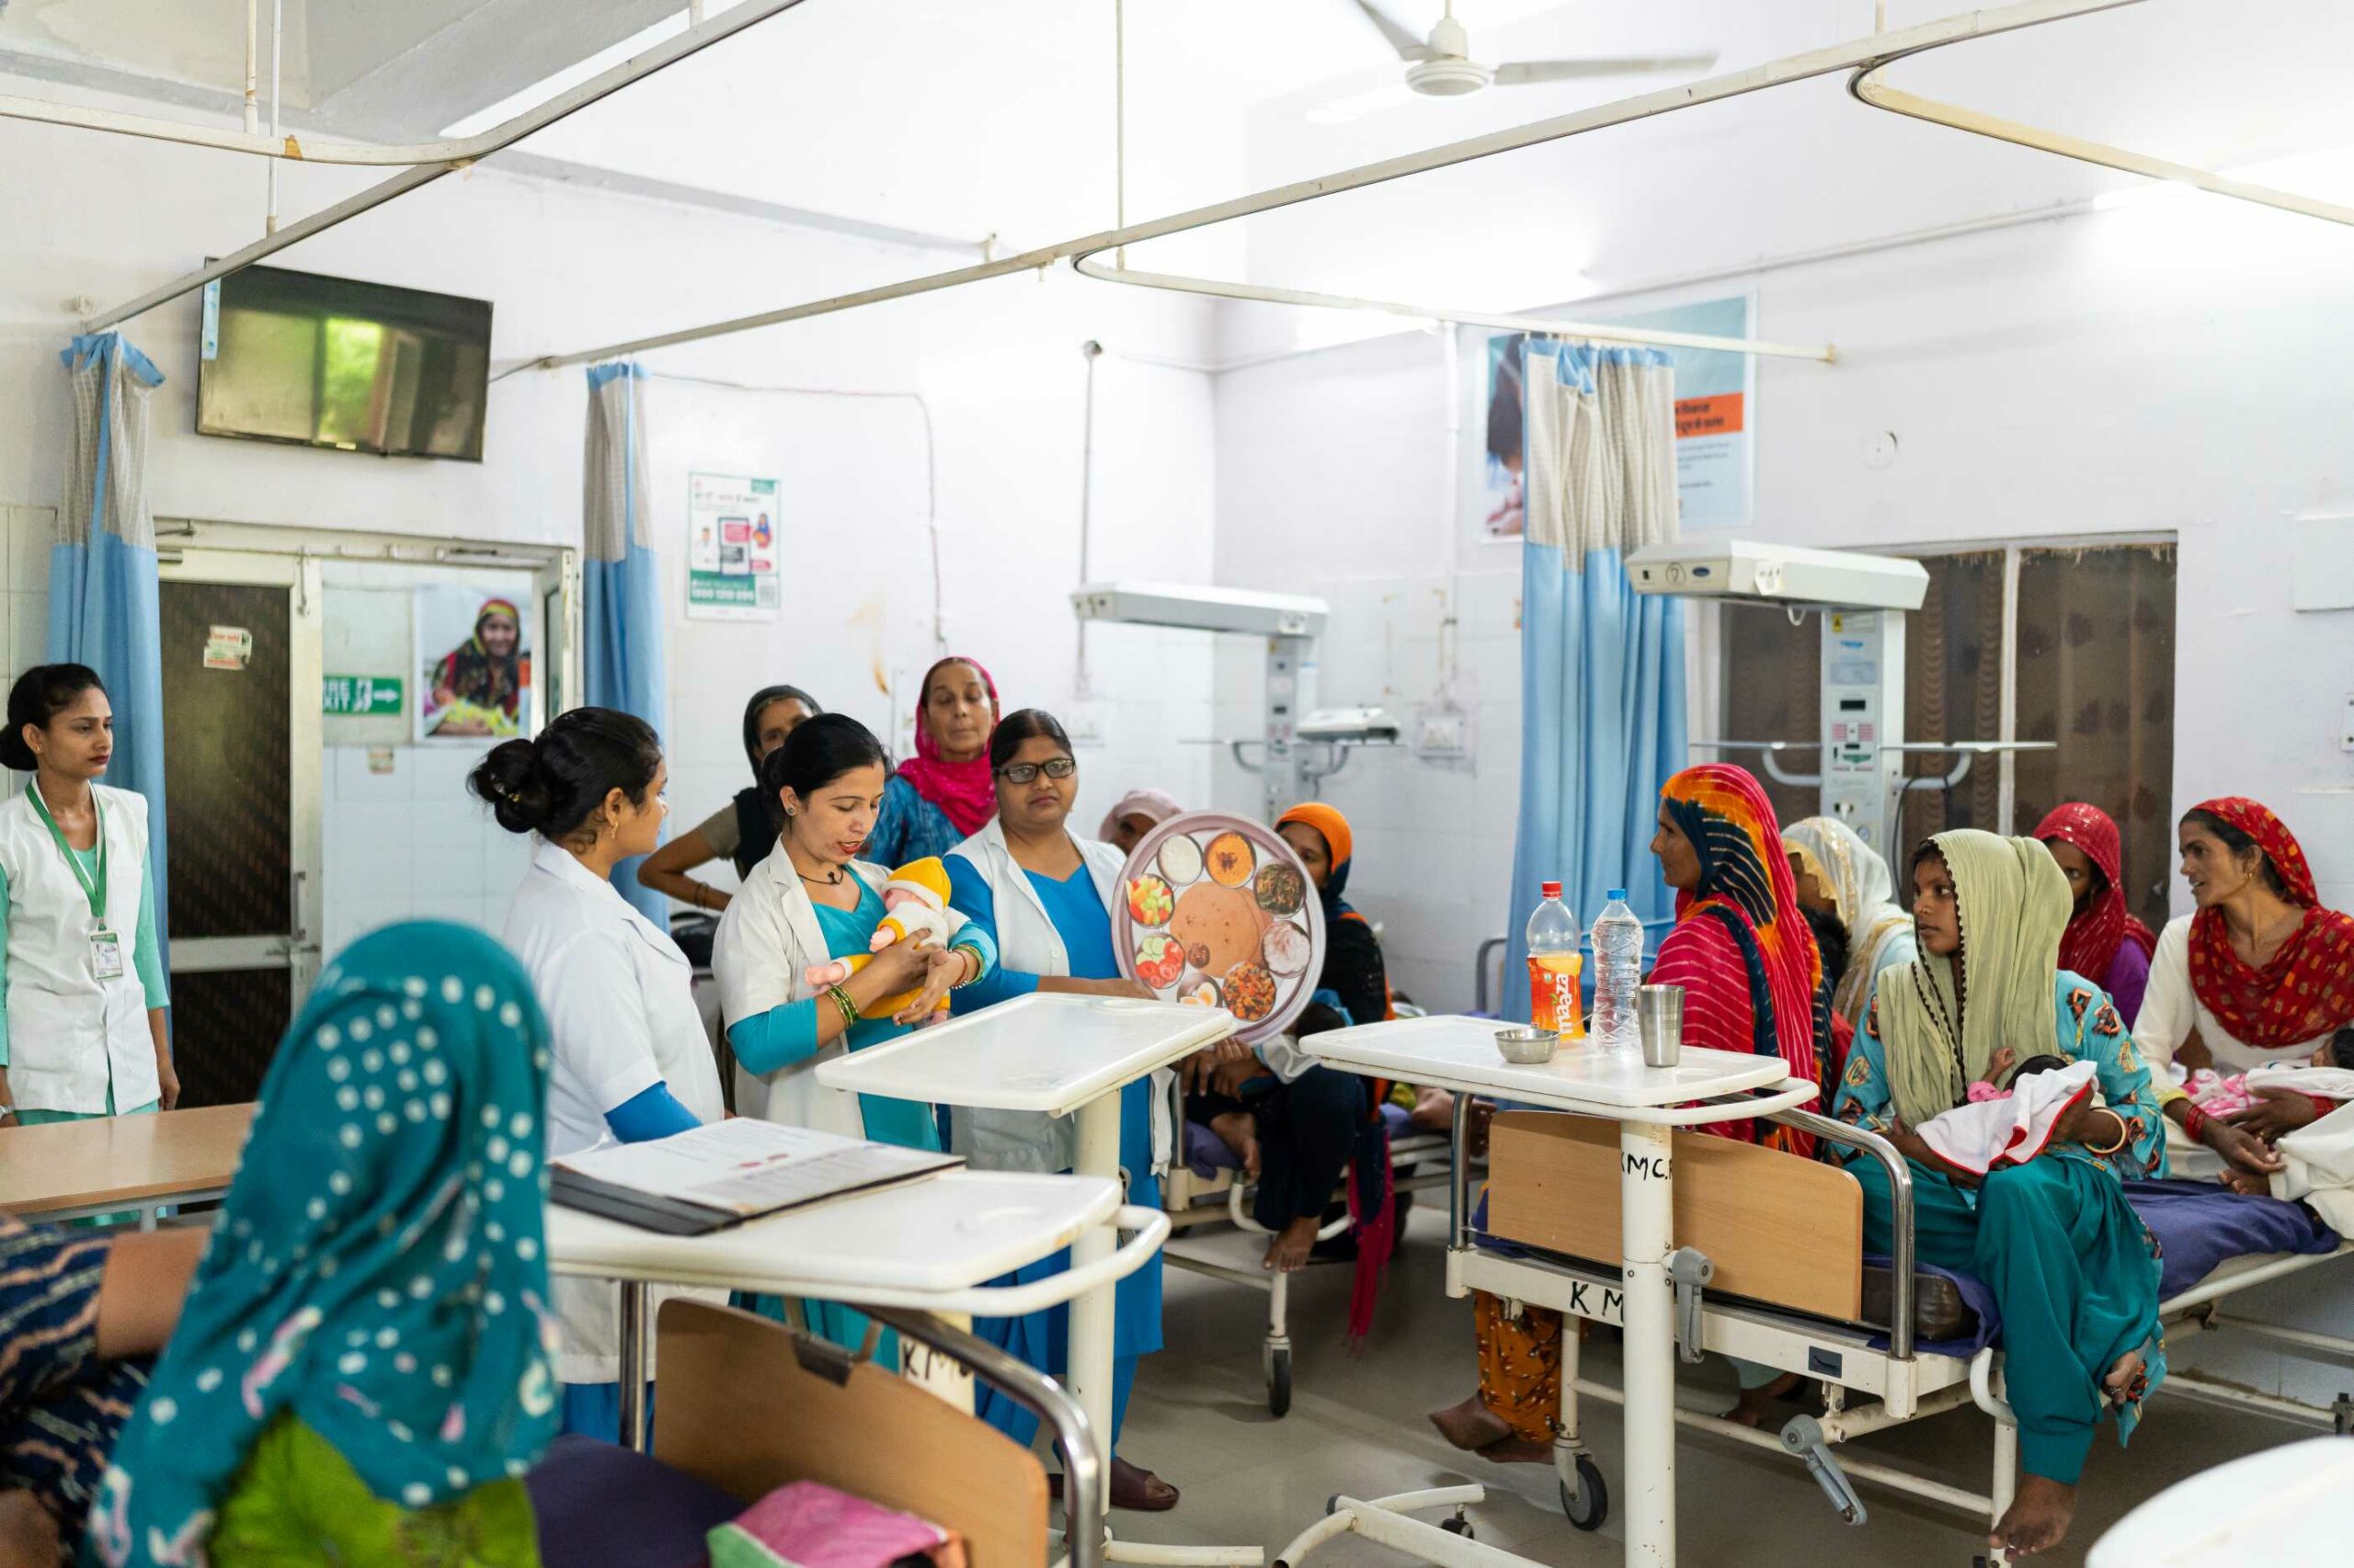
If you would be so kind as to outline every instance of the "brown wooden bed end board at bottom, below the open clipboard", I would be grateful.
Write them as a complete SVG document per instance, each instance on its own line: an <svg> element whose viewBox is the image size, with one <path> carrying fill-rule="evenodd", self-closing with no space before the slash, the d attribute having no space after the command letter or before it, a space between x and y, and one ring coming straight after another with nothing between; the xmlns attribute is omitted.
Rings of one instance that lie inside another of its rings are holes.
<svg viewBox="0 0 2354 1568"><path fill-rule="evenodd" d="M930 1519L965 1537L972 1568L1045 1561L1045 1467L986 1422L873 1363L805 1356L784 1323L661 1304L654 1457L746 1502L786 1481ZM812 1370L817 1368L817 1370Z"/></svg>

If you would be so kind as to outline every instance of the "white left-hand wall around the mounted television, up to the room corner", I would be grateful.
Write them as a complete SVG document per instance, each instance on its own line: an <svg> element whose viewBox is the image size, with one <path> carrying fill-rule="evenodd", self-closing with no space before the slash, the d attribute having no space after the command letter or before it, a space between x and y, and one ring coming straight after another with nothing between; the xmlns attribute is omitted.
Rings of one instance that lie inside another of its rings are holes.
<svg viewBox="0 0 2354 1568"><path fill-rule="evenodd" d="M0 165L9 170L0 188L0 506L54 504L68 443L56 351L75 330L64 301L125 297L240 242L259 221L259 172L186 148L19 122L0 122ZM285 179L290 212L355 184L311 167ZM478 170L308 240L282 261L487 297L504 367L935 271L958 257ZM160 518L579 539L586 393L577 367L497 381L483 464L372 459L198 438L195 297L139 318L127 334L165 372L148 454ZM996 671L1008 706L1071 713L1076 626L1066 591L1078 570L1085 339L1198 360L1208 315L1193 301L1066 273L1024 275L678 348L647 365L746 386L923 393L937 447L946 638ZM1208 379L1109 356L1097 374L1099 570L1205 579L1215 466ZM647 410L654 518L669 542L671 798L683 822L697 822L746 782L739 716L753 687L793 680L878 730L906 713L909 699L892 706L887 687L932 657L932 487L923 424L906 398L800 398L661 379ZM782 619L685 619L680 546L692 469L784 483L791 586ZM12 520L12 539L16 532ZM12 556L26 558L24 572L40 570L28 549ZM38 607L28 600L26 624L40 619ZM31 633L35 652L38 640ZM1182 638L1095 633L1102 702L1090 713L1111 749L1085 758L1080 815L1090 831L1092 812L1128 784L1208 793L1205 753L1172 742L1208 730L1208 647ZM405 765L400 779L410 772ZM388 786L365 784L353 800ZM330 808L341 798L330 791Z"/></svg>

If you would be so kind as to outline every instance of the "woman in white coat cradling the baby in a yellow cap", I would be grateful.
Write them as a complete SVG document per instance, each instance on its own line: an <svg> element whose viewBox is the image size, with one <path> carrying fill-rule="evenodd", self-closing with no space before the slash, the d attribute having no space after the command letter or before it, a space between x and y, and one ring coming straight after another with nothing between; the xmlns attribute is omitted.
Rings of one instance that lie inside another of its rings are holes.
<svg viewBox="0 0 2354 1568"><path fill-rule="evenodd" d="M906 1034L953 986L996 968L996 937L953 911L944 944L899 939L871 951L892 913L883 902L892 871L859 855L876 831L887 777L883 742L847 713L803 720L760 760L760 782L774 793L784 829L727 904L711 968L737 1064L767 1081L767 1121L939 1149L932 1107L817 1083L822 1059ZM833 961L864 963L847 979L819 979ZM822 1335L859 1344L859 1314L807 1307Z"/></svg>

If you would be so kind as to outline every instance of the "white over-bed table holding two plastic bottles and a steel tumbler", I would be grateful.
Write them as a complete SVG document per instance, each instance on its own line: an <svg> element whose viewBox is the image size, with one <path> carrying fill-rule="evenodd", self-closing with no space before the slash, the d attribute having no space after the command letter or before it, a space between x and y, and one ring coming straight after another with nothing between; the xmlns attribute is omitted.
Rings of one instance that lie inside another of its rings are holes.
<svg viewBox="0 0 2354 1568"><path fill-rule="evenodd" d="M1730 1050L1685 1050L1676 1067L1643 1067L1641 1057L1605 1057L1563 1045L1544 1067L1514 1067L1495 1045L1495 1019L1417 1017L1337 1029L1302 1041L1342 1071L1455 1090L1455 1184L1448 1191L1448 1290L1464 1293L1459 1264L1469 1253L1469 1194L1464 1191L1464 1128L1471 1095L1575 1111L1620 1123L1620 1321L1627 1330L1627 1561L1669 1568L1676 1561L1676 1238L1674 1128L1747 1121L1789 1111L1815 1097L1815 1085L1789 1078L1780 1057ZM1766 1092L1758 1092L1766 1090ZM1693 1104L1740 1097L1730 1104ZM1568 1368L1565 1368L1568 1375ZM1570 1479L1565 1479L1565 1486ZM1459 1486L1358 1502L1342 1497L1330 1516L1295 1540L1281 1563L1332 1535L1358 1533L1431 1563L1516 1563L1504 1552L1462 1540L1457 1528L1408 1519L1405 1509L1462 1507L1485 1488Z"/></svg>

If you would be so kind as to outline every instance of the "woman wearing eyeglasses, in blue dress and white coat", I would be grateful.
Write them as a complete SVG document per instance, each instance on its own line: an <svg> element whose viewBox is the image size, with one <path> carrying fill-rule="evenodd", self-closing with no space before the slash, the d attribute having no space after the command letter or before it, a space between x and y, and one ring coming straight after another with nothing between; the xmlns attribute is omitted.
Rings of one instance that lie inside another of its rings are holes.
<svg viewBox="0 0 2354 1568"><path fill-rule="evenodd" d="M1125 852L1076 838L1069 829L1078 796L1078 763L1071 737L1052 713L1008 713L989 739L989 772L998 786L998 815L949 855L949 904L998 939L998 970L953 994L956 1012L1031 991L1080 996L1151 996L1121 979L1111 944L1111 909L1121 897ZM1165 1088L1139 1078L1121 1092L1121 1165L1128 1201L1161 1205L1170 1128L1156 1116L1168 1104ZM951 1147L977 1170L1069 1170L1073 1130L1069 1118L1029 1111L972 1111L951 1116ZM1059 1274L1069 1255L1022 1269L1031 1281ZM1062 1375L1069 1358L1069 1309L1033 1311L1026 1318L975 1318L972 1330L1031 1366ZM1121 1281L1113 1314L1111 1441L1118 1446L1128 1415L1128 1391L1137 1361L1161 1349L1161 1257ZM1038 1417L986 1389L975 1391L977 1413L1017 1443L1029 1443ZM1111 1460L1111 1507L1170 1509L1177 1488L1118 1455Z"/></svg>

